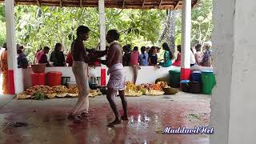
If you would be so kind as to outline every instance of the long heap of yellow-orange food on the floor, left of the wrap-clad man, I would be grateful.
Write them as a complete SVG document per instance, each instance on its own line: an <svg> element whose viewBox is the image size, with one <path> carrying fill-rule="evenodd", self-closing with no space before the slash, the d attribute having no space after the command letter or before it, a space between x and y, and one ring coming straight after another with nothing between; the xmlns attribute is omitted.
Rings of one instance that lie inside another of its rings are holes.
<svg viewBox="0 0 256 144"><path fill-rule="evenodd" d="M78 97L78 87L71 86L33 86L26 89L24 92L17 95L18 99L34 98L38 93L42 94L44 98L64 98L64 97ZM90 90L90 97L102 95L99 90Z"/></svg>

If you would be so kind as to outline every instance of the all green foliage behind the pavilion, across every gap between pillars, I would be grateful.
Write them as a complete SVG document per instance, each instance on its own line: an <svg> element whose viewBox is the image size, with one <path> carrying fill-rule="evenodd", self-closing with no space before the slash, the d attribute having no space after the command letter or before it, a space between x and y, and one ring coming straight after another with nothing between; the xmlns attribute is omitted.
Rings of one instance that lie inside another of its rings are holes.
<svg viewBox="0 0 256 144"><path fill-rule="evenodd" d="M210 40L213 29L212 0L201 0L192 10L191 41ZM6 39L4 6L0 6L0 45ZM98 8L15 6L17 42L26 47L26 54L33 62L34 54L43 46L54 49L61 42L64 50L70 50L80 25L90 28L90 38L86 47L94 48L99 42ZM117 29L122 34L122 45L161 46L158 43L160 32L166 22L166 10L119 10L106 9L106 30ZM181 11L176 20L175 44L181 43Z"/></svg>

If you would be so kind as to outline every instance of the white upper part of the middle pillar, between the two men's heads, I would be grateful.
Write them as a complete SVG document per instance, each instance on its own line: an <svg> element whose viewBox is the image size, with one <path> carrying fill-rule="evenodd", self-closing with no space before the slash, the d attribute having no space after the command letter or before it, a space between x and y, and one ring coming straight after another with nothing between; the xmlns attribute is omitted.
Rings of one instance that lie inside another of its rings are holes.
<svg viewBox="0 0 256 144"><path fill-rule="evenodd" d="M106 15L105 15L105 1L98 0L98 14L99 14L99 31L100 31L100 47L101 50L106 49Z"/></svg>

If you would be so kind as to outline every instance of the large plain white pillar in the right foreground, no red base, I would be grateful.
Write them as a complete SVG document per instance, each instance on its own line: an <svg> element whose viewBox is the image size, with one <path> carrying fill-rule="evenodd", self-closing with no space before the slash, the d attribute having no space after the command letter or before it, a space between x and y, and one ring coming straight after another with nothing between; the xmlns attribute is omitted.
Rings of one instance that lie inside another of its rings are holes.
<svg viewBox="0 0 256 144"><path fill-rule="evenodd" d="M211 144L254 143L256 1L214 1Z"/></svg>

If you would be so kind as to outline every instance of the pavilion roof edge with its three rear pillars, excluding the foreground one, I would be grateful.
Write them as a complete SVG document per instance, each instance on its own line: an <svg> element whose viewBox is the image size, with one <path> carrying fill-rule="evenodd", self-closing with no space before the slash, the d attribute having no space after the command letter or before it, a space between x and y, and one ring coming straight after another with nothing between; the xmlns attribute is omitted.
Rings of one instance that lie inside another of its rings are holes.
<svg viewBox="0 0 256 144"><path fill-rule="evenodd" d="M37 6L75 6L97 7L99 10L100 47L106 47L106 18L105 7L120 9L182 9L182 69L181 79L190 77L190 30L191 8L198 0L0 0L5 2L6 7L6 42L8 49L8 74L10 94L17 94L18 82L16 81L17 59L15 41L14 6L37 5Z"/></svg>

